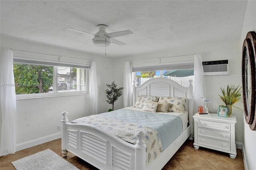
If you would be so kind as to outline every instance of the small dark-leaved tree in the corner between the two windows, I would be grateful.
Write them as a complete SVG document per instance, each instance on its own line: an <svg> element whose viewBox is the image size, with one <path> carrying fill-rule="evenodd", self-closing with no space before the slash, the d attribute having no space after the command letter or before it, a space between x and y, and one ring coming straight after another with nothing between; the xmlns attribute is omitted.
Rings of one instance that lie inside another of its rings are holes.
<svg viewBox="0 0 256 170"><path fill-rule="evenodd" d="M112 104L112 109L109 109L108 111L114 111L114 103L117 101L117 99L123 94L124 87L117 87L117 84L113 81L110 85L106 84L108 87L106 89L106 96L109 104Z"/></svg>

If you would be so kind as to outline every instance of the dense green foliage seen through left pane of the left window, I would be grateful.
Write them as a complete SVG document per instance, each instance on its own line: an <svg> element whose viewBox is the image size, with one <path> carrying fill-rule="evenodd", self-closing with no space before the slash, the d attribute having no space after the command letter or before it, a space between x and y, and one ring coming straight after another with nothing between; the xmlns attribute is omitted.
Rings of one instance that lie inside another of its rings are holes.
<svg viewBox="0 0 256 170"><path fill-rule="evenodd" d="M16 94L48 93L53 83L53 67L13 64Z"/></svg>

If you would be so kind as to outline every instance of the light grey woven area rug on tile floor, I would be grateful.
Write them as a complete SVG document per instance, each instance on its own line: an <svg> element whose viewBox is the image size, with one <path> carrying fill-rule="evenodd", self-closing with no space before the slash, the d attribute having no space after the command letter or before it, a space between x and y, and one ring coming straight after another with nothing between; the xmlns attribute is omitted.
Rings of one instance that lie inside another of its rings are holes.
<svg viewBox="0 0 256 170"><path fill-rule="evenodd" d="M79 170L50 149L21 158L12 164L17 170Z"/></svg>

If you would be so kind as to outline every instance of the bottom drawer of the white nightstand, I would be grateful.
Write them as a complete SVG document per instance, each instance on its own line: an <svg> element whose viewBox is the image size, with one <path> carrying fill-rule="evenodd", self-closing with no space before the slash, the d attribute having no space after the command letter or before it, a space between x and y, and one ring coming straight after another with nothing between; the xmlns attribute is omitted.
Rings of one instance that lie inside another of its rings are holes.
<svg viewBox="0 0 256 170"><path fill-rule="evenodd" d="M214 140L214 139L198 136L198 143L206 146L212 146L215 148L224 149L224 150L230 150L230 142L226 142L226 141Z"/></svg>

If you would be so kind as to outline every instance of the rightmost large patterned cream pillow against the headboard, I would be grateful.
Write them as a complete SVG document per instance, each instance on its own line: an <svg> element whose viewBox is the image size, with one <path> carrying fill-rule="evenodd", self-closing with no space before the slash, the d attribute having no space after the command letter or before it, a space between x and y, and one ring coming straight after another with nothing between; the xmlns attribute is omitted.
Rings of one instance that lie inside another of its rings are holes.
<svg viewBox="0 0 256 170"><path fill-rule="evenodd" d="M166 103L170 103L169 112L184 112L186 97L166 97Z"/></svg>

